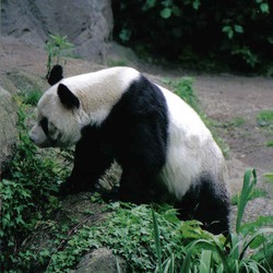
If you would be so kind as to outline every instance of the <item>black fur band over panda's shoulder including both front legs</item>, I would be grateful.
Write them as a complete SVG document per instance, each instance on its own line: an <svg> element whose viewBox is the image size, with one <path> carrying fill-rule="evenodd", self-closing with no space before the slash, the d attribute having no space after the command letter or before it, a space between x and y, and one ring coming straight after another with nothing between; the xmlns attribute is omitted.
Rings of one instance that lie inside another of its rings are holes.
<svg viewBox="0 0 273 273"><path fill-rule="evenodd" d="M99 128L82 131L69 186L73 191L90 190L115 158L122 167L120 200L146 203L157 199L155 190L157 175L166 162L167 130L165 97L142 76L131 84Z"/></svg>

